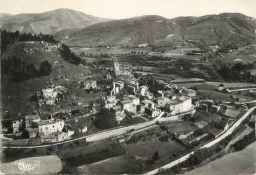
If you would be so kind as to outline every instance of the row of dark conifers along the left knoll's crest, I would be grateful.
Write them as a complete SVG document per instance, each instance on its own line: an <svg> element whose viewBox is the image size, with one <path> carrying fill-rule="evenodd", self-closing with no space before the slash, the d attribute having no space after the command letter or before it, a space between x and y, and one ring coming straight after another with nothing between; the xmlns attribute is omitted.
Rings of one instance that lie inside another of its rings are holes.
<svg viewBox="0 0 256 175"><path fill-rule="evenodd" d="M50 42L53 44L58 43L58 41L54 40L52 34L38 34L32 35L31 33L20 34L18 30L16 32L7 32L6 30L1 31L1 52L5 52L9 46L15 42L24 42L24 41L44 41Z"/></svg>

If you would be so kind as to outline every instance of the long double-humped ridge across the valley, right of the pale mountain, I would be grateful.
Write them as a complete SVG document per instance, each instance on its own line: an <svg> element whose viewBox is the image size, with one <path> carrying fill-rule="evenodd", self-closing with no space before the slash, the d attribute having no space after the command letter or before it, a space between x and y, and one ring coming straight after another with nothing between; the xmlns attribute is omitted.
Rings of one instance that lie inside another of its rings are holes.
<svg viewBox="0 0 256 175"><path fill-rule="evenodd" d="M256 20L239 13L222 13L202 17L143 16L94 24L69 31L70 46L136 46L149 43L213 45L220 42L256 42Z"/></svg>

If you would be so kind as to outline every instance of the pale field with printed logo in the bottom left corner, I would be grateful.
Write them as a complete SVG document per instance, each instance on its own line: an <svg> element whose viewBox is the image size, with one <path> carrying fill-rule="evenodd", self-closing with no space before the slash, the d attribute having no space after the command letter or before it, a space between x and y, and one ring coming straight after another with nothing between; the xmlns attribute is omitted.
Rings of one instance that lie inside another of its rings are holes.
<svg viewBox="0 0 256 175"><path fill-rule="evenodd" d="M20 170L19 162L35 164L34 169ZM61 170L62 162L56 155L29 157L1 164L1 173L3 174L57 174Z"/></svg>

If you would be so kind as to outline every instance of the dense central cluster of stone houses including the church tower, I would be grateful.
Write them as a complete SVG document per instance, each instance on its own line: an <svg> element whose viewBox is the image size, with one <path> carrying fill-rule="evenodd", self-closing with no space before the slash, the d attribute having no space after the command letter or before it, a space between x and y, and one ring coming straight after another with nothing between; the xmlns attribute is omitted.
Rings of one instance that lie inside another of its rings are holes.
<svg viewBox="0 0 256 175"><path fill-rule="evenodd" d="M113 67L116 73L120 73L119 64L116 61ZM101 96L102 107L113 109L118 122L126 116L135 116L135 114L147 114L149 118L155 118L163 110L168 112L169 116L194 110L192 103L192 99L196 98L194 90L172 84L166 84L165 87L169 90L159 90L159 97L155 97L149 87L139 86L137 79L114 81L109 95ZM128 94L120 95L123 88ZM174 90L178 90L178 94Z"/></svg>

